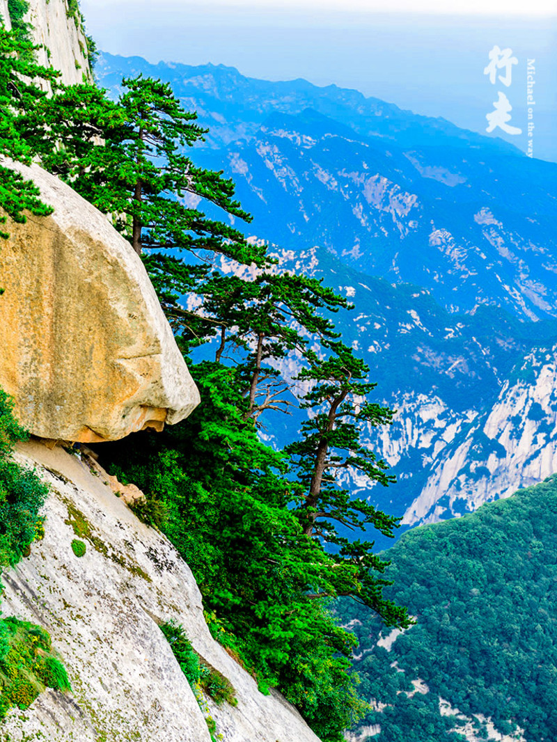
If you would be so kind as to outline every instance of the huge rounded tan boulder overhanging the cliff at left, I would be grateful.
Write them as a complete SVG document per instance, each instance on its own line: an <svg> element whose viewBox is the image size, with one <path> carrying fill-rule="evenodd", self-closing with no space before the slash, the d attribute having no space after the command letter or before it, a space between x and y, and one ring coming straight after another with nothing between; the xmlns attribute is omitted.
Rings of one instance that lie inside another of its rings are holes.
<svg viewBox="0 0 557 742"><path fill-rule="evenodd" d="M140 258L100 211L36 165L54 207L0 245L0 387L36 436L117 440L199 402Z"/></svg>

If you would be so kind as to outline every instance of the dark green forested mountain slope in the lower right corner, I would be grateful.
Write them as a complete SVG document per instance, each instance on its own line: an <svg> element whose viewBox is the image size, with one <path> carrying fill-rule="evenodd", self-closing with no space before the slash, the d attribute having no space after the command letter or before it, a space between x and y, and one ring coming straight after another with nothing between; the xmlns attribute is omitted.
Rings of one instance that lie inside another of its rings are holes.
<svg viewBox="0 0 557 742"><path fill-rule="evenodd" d="M556 516L553 477L405 533L387 571L389 594L416 619L403 634L339 603L359 637L360 690L375 708L356 739L500 740L495 729L506 740L556 738Z"/></svg>

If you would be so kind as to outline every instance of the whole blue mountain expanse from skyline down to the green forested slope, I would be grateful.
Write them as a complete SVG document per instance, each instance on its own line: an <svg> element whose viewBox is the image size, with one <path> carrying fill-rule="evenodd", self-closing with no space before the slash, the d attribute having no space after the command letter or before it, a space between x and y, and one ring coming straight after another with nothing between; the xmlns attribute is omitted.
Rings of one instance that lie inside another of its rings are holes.
<svg viewBox="0 0 557 742"><path fill-rule="evenodd" d="M103 54L100 83L170 82L284 267L356 305L337 326L398 410L365 431L399 484L367 490L406 525L474 510L553 473L557 165L336 86ZM285 368L285 374L296 372ZM273 435L291 420L273 420Z"/></svg>

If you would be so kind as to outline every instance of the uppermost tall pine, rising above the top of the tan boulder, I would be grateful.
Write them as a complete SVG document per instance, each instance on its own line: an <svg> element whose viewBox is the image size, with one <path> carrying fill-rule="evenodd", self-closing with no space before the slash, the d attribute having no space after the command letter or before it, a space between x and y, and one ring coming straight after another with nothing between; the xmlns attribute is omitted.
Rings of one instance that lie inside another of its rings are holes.
<svg viewBox="0 0 557 742"><path fill-rule="evenodd" d="M29 141L48 169L88 201L114 214L139 255L143 249L220 252L261 263L264 248L190 204L200 199L250 221L232 180L184 154L206 130L168 83L138 76L111 102L91 85L60 89L29 121Z"/></svg>

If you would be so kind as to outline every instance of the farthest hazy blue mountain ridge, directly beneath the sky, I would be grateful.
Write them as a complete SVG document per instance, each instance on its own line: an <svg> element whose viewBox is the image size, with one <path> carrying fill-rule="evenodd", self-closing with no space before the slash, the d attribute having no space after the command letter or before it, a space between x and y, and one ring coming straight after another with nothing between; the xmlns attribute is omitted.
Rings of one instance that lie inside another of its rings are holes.
<svg viewBox="0 0 557 742"><path fill-rule="evenodd" d="M442 133L465 147L492 142L492 148L516 157L524 153L503 139L487 139L458 128L446 119L418 116L394 103L337 85L319 87L304 79L286 82L246 77L226 65L182 65L159 62L153 65L139 56L123 57L102 52L95 73L106 88L120 85L123 76L143 72L172 84L183 105L198 111L203 125L210 127L209 146L248 140L270 114L300 114L313 108L363 134L390 139L405 146L434 145Z"/></svg>

